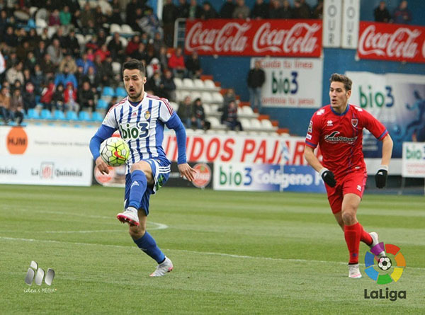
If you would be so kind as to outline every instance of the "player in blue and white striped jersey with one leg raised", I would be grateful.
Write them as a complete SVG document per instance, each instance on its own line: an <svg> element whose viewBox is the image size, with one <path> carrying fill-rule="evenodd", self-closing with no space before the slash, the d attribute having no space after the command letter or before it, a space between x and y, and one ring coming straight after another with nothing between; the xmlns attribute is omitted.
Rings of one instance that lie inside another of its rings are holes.
<svg viewBox="0 0 425 315"><path fill-rule="evenodd" d="M151 277L161 277L173 270L173 263L146 231L146 222L149 197L166 183L170 173L171 162L162 148L164 126L176 132L181 176L193 181L196 171L186 163L186 130L179 116L165 98L145 93L145 65L137 59L125 62L123 80L128 96L108 111L101 127L91 138L90 150L99 171L109 173L99 154L101 142L118 130L130 147L125 174L125 210L117 218L129 224L135 244L157 261L157 269Z"/></svg>

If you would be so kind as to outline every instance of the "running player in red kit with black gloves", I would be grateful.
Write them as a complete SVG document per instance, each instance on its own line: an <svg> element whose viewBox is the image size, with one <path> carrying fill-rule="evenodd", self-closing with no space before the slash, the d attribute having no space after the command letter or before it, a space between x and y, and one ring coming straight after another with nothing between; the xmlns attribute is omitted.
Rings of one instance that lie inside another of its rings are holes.
<svg viewBox="0 0 425 315"><path fill-rule="evenodd" d="M379 243L378 234L366 232L356 217L368 177L362 151L363 128L382 141L381 165L375 175L378 188L385 187L387 182L392 139L385 126L373 115L363 108L348 104L351 79L342 74L332 74L329 81L331 103L312 116L305 139L304 156L323 178L329 205L336 222L344 231L350 253L348 276L358 278L361 277L358 269L360 241L370 248ZM322 152L322 163L314 155L317 145ZM383 248L378 256L385 256Z"/></svg>

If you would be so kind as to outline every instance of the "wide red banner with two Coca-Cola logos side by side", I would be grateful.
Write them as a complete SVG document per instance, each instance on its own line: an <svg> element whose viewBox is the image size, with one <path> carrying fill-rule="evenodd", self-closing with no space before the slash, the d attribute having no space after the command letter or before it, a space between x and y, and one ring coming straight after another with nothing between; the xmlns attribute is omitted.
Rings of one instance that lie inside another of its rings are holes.
<svg viewBox="0 0 425 315"><path fill-rule="evenodd" d="M199 55L319 57L319 20L186 21L185 53Z"/></svg>

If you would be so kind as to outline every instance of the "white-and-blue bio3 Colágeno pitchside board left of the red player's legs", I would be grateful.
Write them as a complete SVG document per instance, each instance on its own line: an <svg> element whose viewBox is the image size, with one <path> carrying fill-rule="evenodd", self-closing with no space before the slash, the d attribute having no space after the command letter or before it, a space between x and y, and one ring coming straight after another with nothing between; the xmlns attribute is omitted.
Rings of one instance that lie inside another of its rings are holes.
<svg viewBox="0 0 425 315"><path fill-rule="evenodd" d="M214 164L215 190L324 193L319 173L310 166Z"/></svg>

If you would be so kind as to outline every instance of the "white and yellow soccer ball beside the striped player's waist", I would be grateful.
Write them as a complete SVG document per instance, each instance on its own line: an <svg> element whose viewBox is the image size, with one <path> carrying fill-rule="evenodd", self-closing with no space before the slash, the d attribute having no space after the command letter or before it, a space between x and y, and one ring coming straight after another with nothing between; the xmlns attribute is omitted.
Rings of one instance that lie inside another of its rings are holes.
<svg viewBox="0 0 425 315"><path fill-rule="evenodd" d="M125 164L130 154L127 142L118 137L106 139L101 144L101 157L109 166L120 166Z"/></svg>

